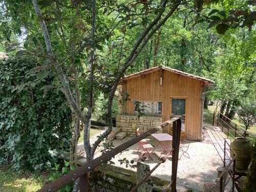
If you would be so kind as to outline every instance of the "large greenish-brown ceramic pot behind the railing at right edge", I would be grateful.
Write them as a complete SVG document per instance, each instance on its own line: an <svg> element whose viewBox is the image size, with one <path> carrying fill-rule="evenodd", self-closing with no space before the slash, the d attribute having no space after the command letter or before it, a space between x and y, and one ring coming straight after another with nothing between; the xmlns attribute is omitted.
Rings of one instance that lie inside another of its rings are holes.
<svg viewBox="0 0 256 192"><path fill-rule="evenodd" d="M250 140L243 137L236 137L231 142L231 157L233 157L233 152L237 154L236 158L236 168L247 170L251 162L252 153L252 143Z"/></svg>

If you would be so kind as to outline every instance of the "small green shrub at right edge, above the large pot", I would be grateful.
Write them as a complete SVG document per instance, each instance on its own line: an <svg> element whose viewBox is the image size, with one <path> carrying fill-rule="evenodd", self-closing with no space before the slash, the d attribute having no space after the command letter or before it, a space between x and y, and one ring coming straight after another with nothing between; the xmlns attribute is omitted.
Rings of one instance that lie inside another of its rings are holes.
<svg viewBox="0 0 256 192"><path fill-rule="evenodd" d="M240 122L245 125L245 130L256 123L256 103L248 99L241 102L241 109L238 110Z"/></svg>

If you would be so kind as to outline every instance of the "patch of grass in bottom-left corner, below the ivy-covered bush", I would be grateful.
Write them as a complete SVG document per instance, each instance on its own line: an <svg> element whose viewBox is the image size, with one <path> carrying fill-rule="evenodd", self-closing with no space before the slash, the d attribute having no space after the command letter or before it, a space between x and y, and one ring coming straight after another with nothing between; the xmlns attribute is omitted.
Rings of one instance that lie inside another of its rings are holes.
<svg viewBox="0 0 256 192"><path fill-rule="evenodd" d="M10 166L0 165L0 191L36 191L48 181L48 178L49 173L19 174Z"/></svg>

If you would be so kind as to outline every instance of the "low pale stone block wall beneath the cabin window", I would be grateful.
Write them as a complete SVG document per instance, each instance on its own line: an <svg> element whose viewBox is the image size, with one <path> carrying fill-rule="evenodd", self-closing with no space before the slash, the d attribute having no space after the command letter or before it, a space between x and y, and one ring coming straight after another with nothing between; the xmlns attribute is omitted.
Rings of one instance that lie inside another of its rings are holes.
<svg viewBox="0 0 256 192"><path fill-rule="evenodd" d="M161 116L143 116L138 119L135 115L117 115L116 127L118 127L121 132L126 132L128 136L135 136L137 128L140 129L140 133L144 133L160 125L162 121ZM157 133L162 133L162 130Z"/></svg>

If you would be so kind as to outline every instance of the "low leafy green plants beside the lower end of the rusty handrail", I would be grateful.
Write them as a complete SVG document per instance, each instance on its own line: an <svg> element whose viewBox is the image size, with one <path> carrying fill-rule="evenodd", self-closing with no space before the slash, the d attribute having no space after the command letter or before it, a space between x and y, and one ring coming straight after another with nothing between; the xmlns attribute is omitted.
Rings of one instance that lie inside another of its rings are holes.
<svg viewBox="0 0 256 192"><path fill-rule="evenodd" d="M70 167L70 162L64 160L64 165L61 167L60 164L54 165L54 167L51 168L53 170L53 173L51 173L49 177L49 181L52 182L63 175L66 175L70 171L75 169L75 166ZM69 192L72 191L72 188L74 186L74 182L70 183L69 185L66 185L65 187L59 189L59 192Z"/></svg>

